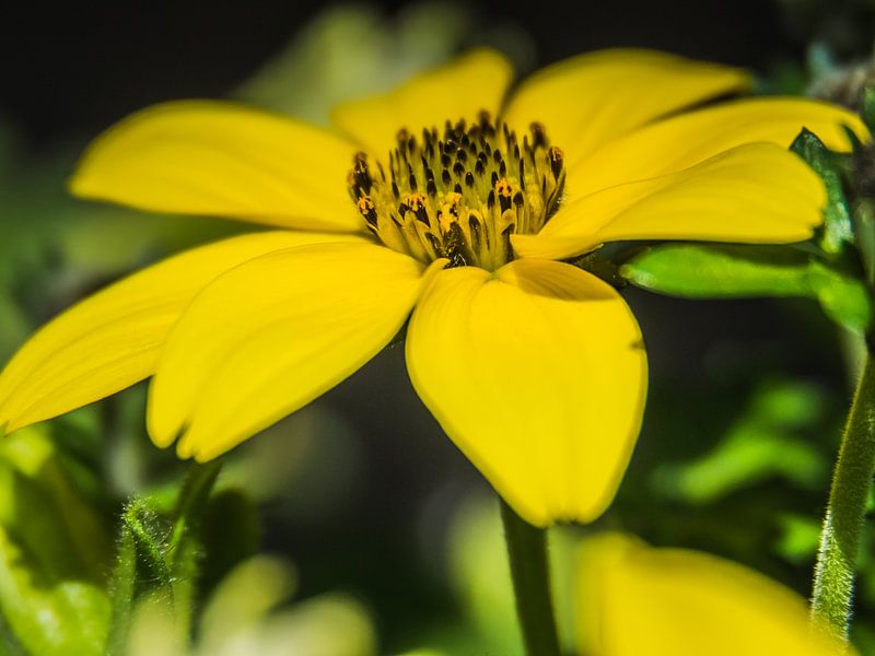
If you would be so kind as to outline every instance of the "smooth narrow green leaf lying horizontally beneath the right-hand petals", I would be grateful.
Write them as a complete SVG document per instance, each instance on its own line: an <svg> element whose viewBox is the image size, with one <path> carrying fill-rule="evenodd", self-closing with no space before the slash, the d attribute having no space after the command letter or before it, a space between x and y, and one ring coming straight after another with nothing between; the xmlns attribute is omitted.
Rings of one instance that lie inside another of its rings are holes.
<svg viewBox="0 0 875 656"><path fill-rule="evenodd" d="M807 296L808 258L780 246L667 244L620 268L632 284L685 298Z"/></svg>

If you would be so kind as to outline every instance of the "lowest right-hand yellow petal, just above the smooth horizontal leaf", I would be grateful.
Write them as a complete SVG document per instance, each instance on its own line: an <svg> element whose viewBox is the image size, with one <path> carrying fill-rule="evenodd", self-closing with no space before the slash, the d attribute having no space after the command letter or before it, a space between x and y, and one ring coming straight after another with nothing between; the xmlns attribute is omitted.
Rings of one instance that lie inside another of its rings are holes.
<svg viewBox="0 0 875 656"><path fill-rule="evenodd" d="M801 157L750 143L572 201L539 234L514 236L513 246L524 257L568 258L623 239L801 242L825 203L824 184Z"/></svg>

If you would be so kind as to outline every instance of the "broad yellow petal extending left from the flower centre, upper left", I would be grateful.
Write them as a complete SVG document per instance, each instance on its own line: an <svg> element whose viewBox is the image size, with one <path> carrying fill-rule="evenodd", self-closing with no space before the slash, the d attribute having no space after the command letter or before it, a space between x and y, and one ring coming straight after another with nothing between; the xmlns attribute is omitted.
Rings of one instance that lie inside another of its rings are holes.
<svg viewBox="0 0 875 656"><path fill-rule="evenodd" d="M346 188L354 153L287 117L231 103L167 103L97 138L70 187L158 212L363 231Z"/></svg>

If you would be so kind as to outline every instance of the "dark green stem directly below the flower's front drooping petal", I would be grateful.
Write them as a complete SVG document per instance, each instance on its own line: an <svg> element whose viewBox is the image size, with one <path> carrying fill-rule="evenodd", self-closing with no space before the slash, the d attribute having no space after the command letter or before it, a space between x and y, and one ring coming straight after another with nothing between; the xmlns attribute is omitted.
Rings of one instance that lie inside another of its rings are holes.
<svg viewBox="0 0 875 656"><path fill-rule="evenodd" d="M547 531L521 518L501 501L504 540L511 562L516 614L528 656L559 656L550 596Z"/></svg>

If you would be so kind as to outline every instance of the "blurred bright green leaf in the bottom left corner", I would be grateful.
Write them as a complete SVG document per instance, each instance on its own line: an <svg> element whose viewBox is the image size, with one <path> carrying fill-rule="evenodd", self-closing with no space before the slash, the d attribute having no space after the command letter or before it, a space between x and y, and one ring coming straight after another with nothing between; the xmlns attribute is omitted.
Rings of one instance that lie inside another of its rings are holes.
<svg viewBox="0 0 875 656"><path fill-rule="evenodd" d="M0 443L0 609L10 630L33 654L103 654L107 536L43 427Z"/></svg>

